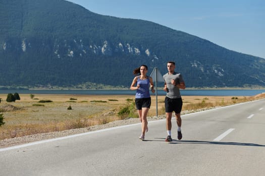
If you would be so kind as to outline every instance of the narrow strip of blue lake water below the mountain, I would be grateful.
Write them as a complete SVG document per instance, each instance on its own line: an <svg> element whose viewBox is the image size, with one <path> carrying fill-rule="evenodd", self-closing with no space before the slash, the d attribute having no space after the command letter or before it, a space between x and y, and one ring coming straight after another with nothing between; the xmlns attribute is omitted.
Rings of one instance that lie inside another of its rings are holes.
<svg viewBox="0 0 265 176"><path fill-rule="evenodd" d="M0 94L135 95L131 90L0 90ZM181 90L182 96L254 96L265 90ZM150 93L152 94L152 93ZM166 95L157 90L158 96Z"/></svg>

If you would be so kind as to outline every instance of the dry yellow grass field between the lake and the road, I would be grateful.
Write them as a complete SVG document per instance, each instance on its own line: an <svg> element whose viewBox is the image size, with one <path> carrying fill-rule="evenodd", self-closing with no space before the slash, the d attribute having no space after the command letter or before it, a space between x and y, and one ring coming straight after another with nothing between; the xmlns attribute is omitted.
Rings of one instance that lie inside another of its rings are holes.
<svg viewBox="0 0 265 176"><path fill-rule="evenodd" d="M118 112L128 105L128 95L19 95L21 100L6 102L7 95L0 94L0 113L5 124L0 127L0 140L37 133L84 128L120 120ZM156 98L152 96L148 117L156 116ZM164 115L165 96L157 97L158 115ZM200 97L183 96L183 112L226 106L265 98L255 97ZM39 103L39 101L52 101ZM68 110L71 106L72 110Z"/></svg>

